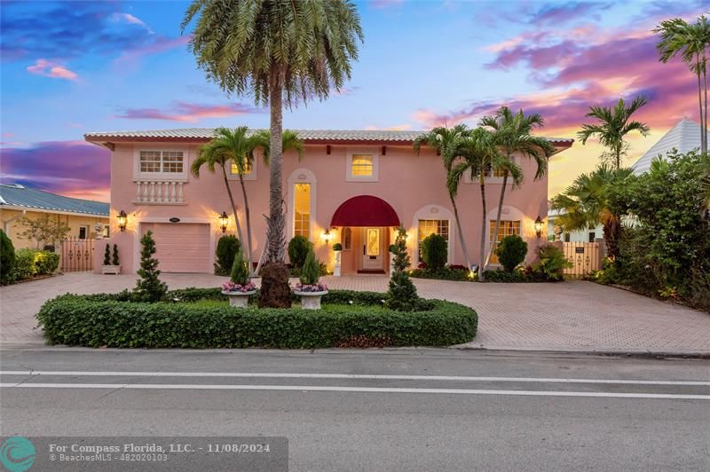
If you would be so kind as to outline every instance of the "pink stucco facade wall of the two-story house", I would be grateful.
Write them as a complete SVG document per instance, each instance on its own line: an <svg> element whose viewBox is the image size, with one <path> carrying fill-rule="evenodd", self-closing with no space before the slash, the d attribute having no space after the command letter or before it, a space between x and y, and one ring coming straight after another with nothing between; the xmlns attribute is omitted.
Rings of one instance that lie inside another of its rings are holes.
<svg viewBox="0 0 710 472"><path fill-rule="evenodd" d="M326 153L325 145L306 146L304 158L299 161L294 153L288 153L284 158L283 181L285 198L288 208L292 207L292 185L294 182L311 181L315 196L314 215L312 216L312 241L315 244L319 258L332 267L333 253L329 246L339 240L339 234L333 233L330 243L321 237L322 232L330 223L335 209L343 201L361 194L375 195L387 201L397 211L401 222L409 232L409 246L416 264L416 223L422 219L451 219L450 238L453 253L450 262L464 264L463 253L457 235L453 209L446 193L446 173L441 165L441 158L435 153L424 151L421 155L413 153L411 146L387 146L386 155L379 155L379 178L377 182L346 181L346 160L351 152L373 152L380 154L382 146L338 146L333 145L331 153ZM210 245L212 266L214 260L214 242L221 236L217 216L226 211L230 214L230 205L225 192L221 175L210 174L203 169L201 177L190 175L184 185L185 205L145 205L135 204L137 186L133 183L134 159L138 150L172 149L183 150L187 155L187 166L196 157L198 145L185 144L116 144L111 160L111 243L116 243L122 259L122 271L134 272L138 264L138 227L140 222L165 222L170 217L178 217L181 223L211 224L213 243ZM554 158L553 158L554 159ZM503 219L521 220L522 236L528 241L528 260L534 259L535 249L544 242L535 235L533 222L537 216L543 218L548 214L548 180L544 177L533 180L534 162L519 160L525 171L525 184L514 191L509 191L503 208ZM299 179L305 178L306 180ZM241 188L238 180L232 180L230 185L240 208L243 224L243 204ZM268 168L260 160L256 161L256 180L247 181L247 192L253 227L254 248L253 257L256 260L264 248L265 222L268 214L269 178ZM486 185L488 201L488 219L495 218L501 185L489 183ZM479 241L481 224L481 197L476 183L462 183L457 199L461 214L461 224L469 248L469 257L473 264L479 262ZM128 228L120 232L116 226L116 215L120 210L128 213ZM180 223L177 223L180 224ZM287 238L292 236L292 219L288 221ZM230 217L228 232L235 232L233 217ZM353 248L358 248L359 240L353 231ZM191 241L185 240L185 244ZM385 246L386 248L386 246ZM97 271L100 269L100 251L97 251ZM343 273L355 271L356 264L352 257L343 252Z"/></svg>

